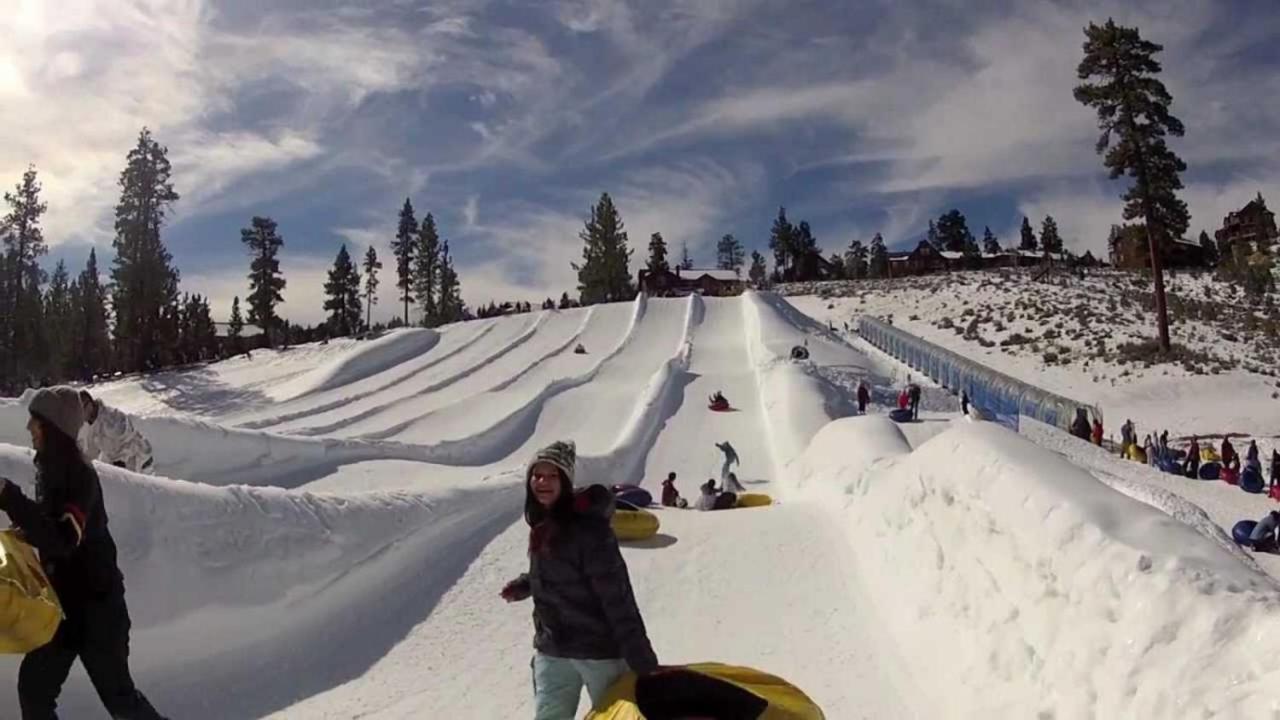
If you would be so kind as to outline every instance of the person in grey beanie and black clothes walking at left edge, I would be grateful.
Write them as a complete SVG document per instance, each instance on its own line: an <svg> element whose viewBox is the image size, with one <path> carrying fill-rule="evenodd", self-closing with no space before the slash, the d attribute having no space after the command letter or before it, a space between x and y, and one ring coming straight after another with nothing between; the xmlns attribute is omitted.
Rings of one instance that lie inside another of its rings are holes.
<svg viewBox="0 0 1280 720"><path fill-rule="evenodd" d="M84 423L70 387L40 389L28 407L36 450L36 500L4 479L0 510L38 552L63 623L54 639L22 660L18 703L24 720L55 720L58 696L78 657L115 719L161 720L129 674L129 611L102 488L76 445Z"/></svg>

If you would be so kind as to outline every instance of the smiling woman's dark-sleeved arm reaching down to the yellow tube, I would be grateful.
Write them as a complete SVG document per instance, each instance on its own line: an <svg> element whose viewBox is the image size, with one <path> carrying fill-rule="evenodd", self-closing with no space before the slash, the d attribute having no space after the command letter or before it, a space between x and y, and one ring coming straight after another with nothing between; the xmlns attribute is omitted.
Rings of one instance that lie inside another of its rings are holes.
<svg viewBox="0 0 1280 720"><path fill-rule="evenodd" d="M627 564L618 550L618 538L607 523L598 523L585 538L584 569L591 591L613 629L613 638L622 648L622 659L636 674L658 667L658 656L649 643L649 634L636 606Z"/></svg>

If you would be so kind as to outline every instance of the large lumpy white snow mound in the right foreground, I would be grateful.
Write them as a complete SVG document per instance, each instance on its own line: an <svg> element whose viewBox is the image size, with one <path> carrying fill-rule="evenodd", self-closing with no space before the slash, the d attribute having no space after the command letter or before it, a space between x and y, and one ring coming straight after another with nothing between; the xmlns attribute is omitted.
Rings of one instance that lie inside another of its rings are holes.
<svg viewBox="0 0 1280 720"><path fill-rule="evenodd" d="M1256 569L989 423L904 452L832 423L797 468L845 493L876 612L956 717L1260 716L1280 708L1280 596Z"/></svg>

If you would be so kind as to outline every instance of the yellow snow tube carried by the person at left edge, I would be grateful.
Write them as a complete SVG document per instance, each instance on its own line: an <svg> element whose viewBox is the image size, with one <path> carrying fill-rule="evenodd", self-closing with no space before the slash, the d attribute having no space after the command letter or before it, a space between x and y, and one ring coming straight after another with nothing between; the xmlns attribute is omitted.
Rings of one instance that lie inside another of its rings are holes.
<svg viewBox="0 0 1280 720"><path fill-rule="evenodd" d="M0 653L26 655L54 639L63 609L36 551L0 530Z"/></svg>

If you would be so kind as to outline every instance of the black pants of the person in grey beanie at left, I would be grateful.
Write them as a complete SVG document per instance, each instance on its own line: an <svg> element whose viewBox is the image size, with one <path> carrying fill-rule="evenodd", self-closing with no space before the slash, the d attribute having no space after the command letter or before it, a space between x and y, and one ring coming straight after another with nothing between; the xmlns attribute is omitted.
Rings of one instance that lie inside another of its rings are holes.
<svg viewBox="0 0 1280 720"><path fill-rule="evenodd" d="M124 598L68 611L54 639L22 660L18 703L23 720L56 720L58 696L79 657L108 714L116 720L163 720L129 675L129 612Z"/></svg>

